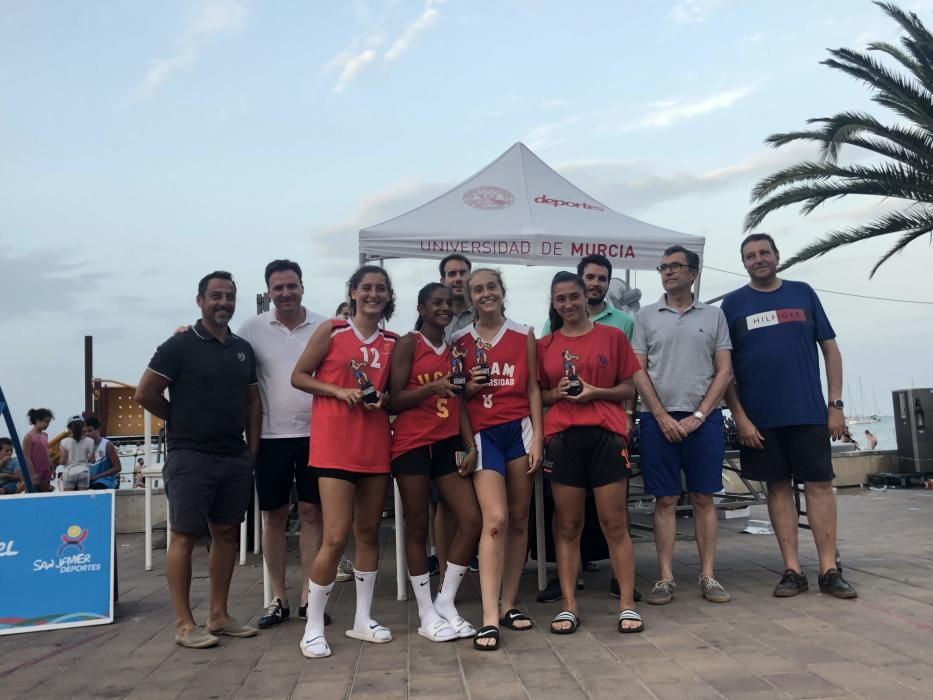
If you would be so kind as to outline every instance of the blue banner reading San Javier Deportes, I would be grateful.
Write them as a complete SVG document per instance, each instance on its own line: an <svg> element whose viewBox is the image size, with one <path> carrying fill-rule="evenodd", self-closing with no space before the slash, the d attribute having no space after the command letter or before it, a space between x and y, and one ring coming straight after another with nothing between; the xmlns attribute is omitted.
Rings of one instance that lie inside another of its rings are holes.
<svg viewBox="0 0 933 700"><path fill-rule="evenodd" d="M0 635L113 622L114 496L0 499Z"/></svg>

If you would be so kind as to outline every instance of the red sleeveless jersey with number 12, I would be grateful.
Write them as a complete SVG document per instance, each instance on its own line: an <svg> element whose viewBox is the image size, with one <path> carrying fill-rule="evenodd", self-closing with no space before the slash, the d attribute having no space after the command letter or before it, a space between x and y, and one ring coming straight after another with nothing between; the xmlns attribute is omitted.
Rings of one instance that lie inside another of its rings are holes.
<svg viewBox="0 0 933 700"><path fill-rule="evenodd" d="M364 338L351 320L332 320L330 324L330 348L318 365L315 378L359 389L360 381L350 366L351 360L356 360L376 391L384 392L398 336L380 328ZM385 474L389 472L390 460L389 415L385 411L349 406L330 396L314 397L310 466Z"/></svg>

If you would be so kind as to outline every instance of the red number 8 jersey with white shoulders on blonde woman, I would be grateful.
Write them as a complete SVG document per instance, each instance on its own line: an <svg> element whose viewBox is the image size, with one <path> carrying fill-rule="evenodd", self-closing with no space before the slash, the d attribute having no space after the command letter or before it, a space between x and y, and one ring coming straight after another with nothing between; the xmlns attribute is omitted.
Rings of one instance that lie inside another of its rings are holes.
<svg viewBox="0 0 933 700"><path fill-rule="evenodd" d="M485 349L489 384L467 401L467 412L475 432L531 415L528 400L528 326L506 319ZM477 341L473 326L454 334L453 342L466 351L467 376L477 363ZM482 355L484 351L480 349Z"/></svg>

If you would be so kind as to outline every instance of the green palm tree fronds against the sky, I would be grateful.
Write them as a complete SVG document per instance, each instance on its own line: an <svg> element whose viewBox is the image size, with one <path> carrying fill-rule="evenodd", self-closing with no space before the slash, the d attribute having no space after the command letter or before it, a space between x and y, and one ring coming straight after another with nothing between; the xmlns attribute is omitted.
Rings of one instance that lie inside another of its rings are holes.
<svg viewBox="0 0 933 700"><path fill-rule="evenodd" d="M872 277L908 243L933 232L933 36L916 14L890 3L875 4L905 35L900 47L874 42L868 50L887 54L900 65L892 69L867 53L850 49L831 50L832 58L822 63L866 83L873 93L872 101L893 110L900 119L885 125L870 114L840 112L807 121L819 124L819 128L769 136L765 142L775 148L793 141L815 141L820 144L820 159L792 165L761 180L752 190L752 201L758 204L745 217L745 230L754 229L781 207L801 203L801 213L809 214L823 202L846 195L891 197L908 204L874 221L825 234L781 269L844 245L900 234L875 263ZM866 165L840 164L844 145L876 158Z"/></svg>

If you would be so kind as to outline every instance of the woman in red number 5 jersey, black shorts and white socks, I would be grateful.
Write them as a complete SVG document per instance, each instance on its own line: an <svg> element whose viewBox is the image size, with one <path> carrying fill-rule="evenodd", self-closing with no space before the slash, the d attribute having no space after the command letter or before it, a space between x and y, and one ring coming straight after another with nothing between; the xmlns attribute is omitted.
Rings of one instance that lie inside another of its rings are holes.
<svg viewBox="0 0 933 700"><path fill-rule="evenodd" d="M472 637L476 629L457 612L454 599L481 525L479 504L470 479L476 466L476 445L460 389L451 382L456 372L444 341L444 327L453 316L450 290L432 282L418 292L415 332L402 337L392 355L392 473L405 513L405 554L408 576L418 601L418 634L435 642ZM457 374L461 374L456 372ZM462 462L457 464L457 452ZM428 487L435 479L453 513L456 535L450 545L447 570L437 598L431 601L425 545L428 537Z"/></svg>

